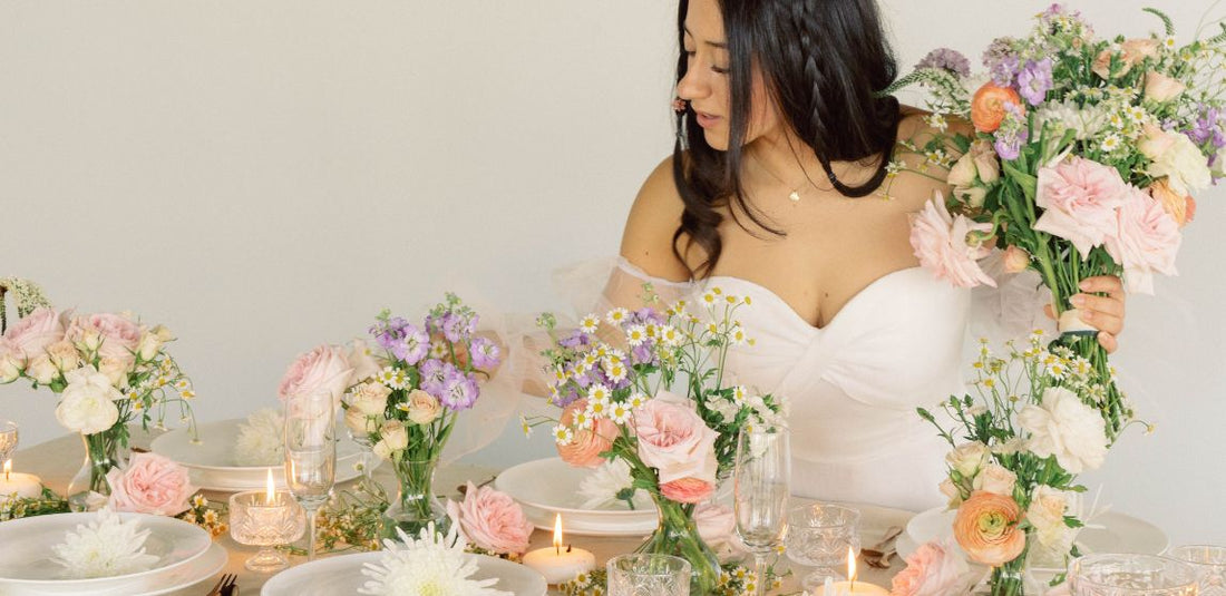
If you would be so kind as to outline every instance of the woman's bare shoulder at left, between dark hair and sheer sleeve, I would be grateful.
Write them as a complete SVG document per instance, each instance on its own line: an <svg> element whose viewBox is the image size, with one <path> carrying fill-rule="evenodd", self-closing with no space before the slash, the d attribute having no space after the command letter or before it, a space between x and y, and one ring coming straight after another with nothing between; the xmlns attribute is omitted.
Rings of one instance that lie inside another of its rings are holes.
<svg viewBox="0 0 1226 596"><path fill-rule="evenodd" d="M685 281L689 269L673 250L673 235L685 211L673 163L672 156L664 158L639 189L622 233L622 256L653 277Z"/></svg>

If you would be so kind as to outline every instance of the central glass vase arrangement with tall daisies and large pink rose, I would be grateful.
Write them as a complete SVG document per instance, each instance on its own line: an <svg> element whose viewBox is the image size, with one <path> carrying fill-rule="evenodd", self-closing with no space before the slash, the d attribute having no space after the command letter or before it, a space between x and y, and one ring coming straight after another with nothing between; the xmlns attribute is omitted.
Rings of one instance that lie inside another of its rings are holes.
<svg viewBox="0 0 1226 596"><path fill-rule="evenodd" d="M658 302L650 288L649 298ZM695 509L731 472L737 432L780 423L781 402L725 379L728 350L752 341L734 319L749 298L714 287L701 302L700 315L688 313L684 302L664 311L618 308L603 321L588 315L562 336L555 320L542 316L554 335L543 352L549 401L562 413L555 421L525 419L524 427L555 422L558 453L571 465L623 461L631 487L646 491L660 511L660 526L640 552L685 558L693 591L709 594L720 565L695 526Z"/></svg>

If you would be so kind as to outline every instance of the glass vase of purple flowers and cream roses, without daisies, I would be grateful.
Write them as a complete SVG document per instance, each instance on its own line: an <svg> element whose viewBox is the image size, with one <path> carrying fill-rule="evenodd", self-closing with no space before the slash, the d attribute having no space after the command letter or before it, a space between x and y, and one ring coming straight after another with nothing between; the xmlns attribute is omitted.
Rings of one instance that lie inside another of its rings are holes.
<svg viewBox="0 0 1226 596"><path fill-rule="evenodd" d="M358 342L346 362L352 386L345 399L351 432L392 464L400 494L384 511L387 536L394 527L417 535L429 522L446 531L447 516L432 481L460 412L481 397L501 356L476 334L479 318L455 294L414 325L384 311L370 327L381 350Z"/></svg>

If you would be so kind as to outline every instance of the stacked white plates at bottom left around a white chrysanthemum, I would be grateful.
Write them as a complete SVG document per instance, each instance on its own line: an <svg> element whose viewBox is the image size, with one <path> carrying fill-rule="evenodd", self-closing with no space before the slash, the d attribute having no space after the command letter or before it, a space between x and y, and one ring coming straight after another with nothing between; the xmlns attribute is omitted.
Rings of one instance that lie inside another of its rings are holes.
<svg viewBox="0 0 1226 596"><path fill-rule="evenodd" d="M157 562L145 571L94 579L66 579L65 569L50 559L51 547L64 542L77 526L97 514L58 514L0 524L0 594L26 595L154 595L199 584L226 567L228 556L200 526L174 518L119 514L139 518L150 530L145 552Z"/></svg>

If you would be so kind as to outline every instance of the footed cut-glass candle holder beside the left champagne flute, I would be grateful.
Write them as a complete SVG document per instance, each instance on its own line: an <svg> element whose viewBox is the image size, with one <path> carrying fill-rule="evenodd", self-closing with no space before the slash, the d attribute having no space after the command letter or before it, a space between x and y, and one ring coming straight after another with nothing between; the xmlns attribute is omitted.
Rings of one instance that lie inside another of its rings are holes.
<svg viewBox="0 0 1226 596"><path fill-rule="evenodd" d="M246 559L245 567L256 573L288 567L289 559L276 547L300 538L306 529L306 513L289 492L278 491L271 499L265 491L237 493L230 495L229 505L234 542L262 547Z"/></svg>

